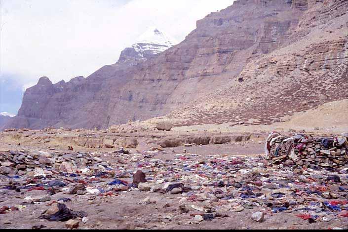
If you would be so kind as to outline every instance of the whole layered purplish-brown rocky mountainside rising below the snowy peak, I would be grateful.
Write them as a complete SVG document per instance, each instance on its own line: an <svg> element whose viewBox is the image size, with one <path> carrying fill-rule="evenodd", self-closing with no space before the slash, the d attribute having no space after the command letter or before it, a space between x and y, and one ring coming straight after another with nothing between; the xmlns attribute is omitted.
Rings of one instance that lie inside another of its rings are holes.
<svg viewBox="0 0 348 232"><path fill-rule="evenodd" d="M181 124L267 123L275 114L345 98L347 6L236 0L163 52L144 52L139 43L87 78L41 78L7 126L105 128L173 110L169 117Z"/></svg>

